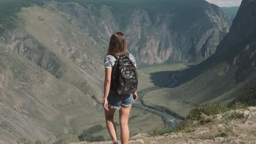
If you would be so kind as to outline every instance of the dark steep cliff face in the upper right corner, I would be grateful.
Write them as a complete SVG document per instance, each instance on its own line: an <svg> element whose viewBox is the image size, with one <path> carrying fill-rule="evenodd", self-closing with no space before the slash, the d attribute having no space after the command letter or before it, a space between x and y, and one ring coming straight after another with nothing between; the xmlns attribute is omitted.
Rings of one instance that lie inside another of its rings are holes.
<svg viewBox="0 0 256 144"><path fill-rule="evenodd" d="M230 33L220 43L213 57L229 55L237 67L236 82L242 82L256 70L256 0L243 0Z"/></svg>

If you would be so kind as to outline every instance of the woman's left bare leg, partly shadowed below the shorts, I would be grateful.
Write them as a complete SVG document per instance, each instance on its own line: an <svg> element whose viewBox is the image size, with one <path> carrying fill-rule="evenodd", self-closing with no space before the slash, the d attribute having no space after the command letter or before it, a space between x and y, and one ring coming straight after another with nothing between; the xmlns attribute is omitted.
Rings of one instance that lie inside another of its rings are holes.
<svg viewBox="0 0 256 144"><path fill-rule="evenodd" d="M113 143L115 143L115 142L117 142L116 127L115 127L115 123L114 123L115 110L110 107L108 109L109 109L109 111L105 111L106 124L107 124L107 128L108 128L108 132L112 138L112 141L113 141Z"/></svg>

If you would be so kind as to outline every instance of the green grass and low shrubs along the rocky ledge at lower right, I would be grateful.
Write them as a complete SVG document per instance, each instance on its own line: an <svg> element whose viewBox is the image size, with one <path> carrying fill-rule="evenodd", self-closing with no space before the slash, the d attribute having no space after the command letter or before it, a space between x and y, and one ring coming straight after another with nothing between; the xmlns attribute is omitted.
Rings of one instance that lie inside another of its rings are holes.
<svg viewBox="0 0 256 144"><path fill-rule="evenodd" d="M227 114L227 111L241 109L241 108L247 108L248 106L237 102L234 105L221 105L220 103L217 104L209 104L204 103L202 105L196 106L194 108L191 108L187 117L184 119L184 121L181 121L179 124L177 124L173 129L170 129L168 127L162 127L162 128L156 128L153 129L151 132L149 132L150 135L156 136L156 135L163 135L171 132L193 132L194 131L194 125L193 123L195 121L199 121L199 124L207 124L210 122L213 122L214 115L223 114L223 126L224 131L221 131L221 135L230 136L236 134L236 131L234 129L233 124L231 124L231 120L233 118L241 118L240 115L237 113L231 113Z"/></svg>

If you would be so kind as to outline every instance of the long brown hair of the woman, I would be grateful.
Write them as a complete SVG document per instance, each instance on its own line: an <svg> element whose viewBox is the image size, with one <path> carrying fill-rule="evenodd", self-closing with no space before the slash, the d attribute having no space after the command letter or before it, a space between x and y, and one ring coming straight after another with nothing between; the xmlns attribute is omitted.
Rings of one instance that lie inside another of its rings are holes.
<svg viewBox="0 0 256 144"><path fill-rule="evenodd" d="M116 32L114 33L109 41L109 46L108 46L108 52L107 55L110 54L125 54L127 51L127 45L125 41L125 35L121 32Z"/></svg>

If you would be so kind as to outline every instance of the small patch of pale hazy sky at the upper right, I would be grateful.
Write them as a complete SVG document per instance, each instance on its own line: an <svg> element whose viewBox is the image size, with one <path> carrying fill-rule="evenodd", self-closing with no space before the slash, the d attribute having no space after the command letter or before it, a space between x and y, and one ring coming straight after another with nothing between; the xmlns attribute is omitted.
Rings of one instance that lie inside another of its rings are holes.
<svg viewBox="0 0 256 144"><path fill-rule="evenodd" d="M219 7L235 7L240 6L242 0L206 0L209 3L216 4Z"/></svg>

